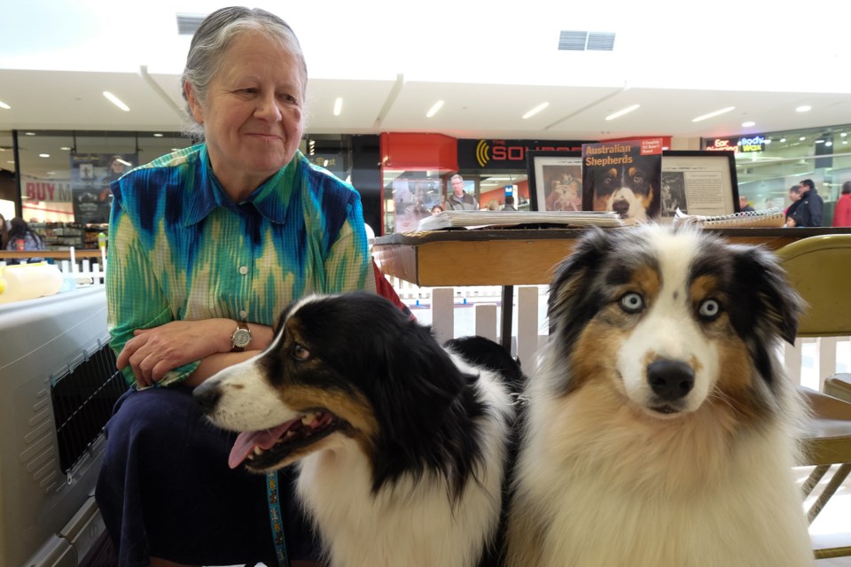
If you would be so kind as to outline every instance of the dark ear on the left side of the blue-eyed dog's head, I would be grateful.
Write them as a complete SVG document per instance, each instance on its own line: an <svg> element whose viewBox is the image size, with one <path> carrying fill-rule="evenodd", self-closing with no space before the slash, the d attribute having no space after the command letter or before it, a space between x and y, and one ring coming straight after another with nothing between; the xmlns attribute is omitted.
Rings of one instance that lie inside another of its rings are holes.
<svg viewBox="0 0 851 567"><path fill-rule="evenodd" d="M589 227L576 243L574 252L558 265L550 283L547 315L550 335L574 335L597 312L596 286L591 276L613 250L612 237L603 229ZM564 328L560 328L563 326ZM575 338L573 336L570 337Z"/></svg>

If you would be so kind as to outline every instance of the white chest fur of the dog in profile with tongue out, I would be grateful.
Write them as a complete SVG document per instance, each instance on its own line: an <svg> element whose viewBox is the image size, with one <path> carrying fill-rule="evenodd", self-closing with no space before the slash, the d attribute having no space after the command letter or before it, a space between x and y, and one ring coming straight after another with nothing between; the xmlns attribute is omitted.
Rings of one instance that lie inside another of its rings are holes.
<svg viewBox="0 0 851 567"><path fill-rule="evenodd" d="M498 393L500 397L504 393ZM301 462L298 491L332 567L474 567L499 521L506 417L481 420L484 462L450 501L444 478L426 472L371 492L371 467L350 439Z"/></svg>

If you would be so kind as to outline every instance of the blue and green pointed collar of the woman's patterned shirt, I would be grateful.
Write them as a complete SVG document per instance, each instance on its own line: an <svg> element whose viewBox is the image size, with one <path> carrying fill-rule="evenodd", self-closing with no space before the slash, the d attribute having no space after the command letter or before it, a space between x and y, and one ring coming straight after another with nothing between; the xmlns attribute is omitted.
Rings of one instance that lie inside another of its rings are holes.
<svg viewBox="0 0 851 567"><path fill-rule="evenodd" d="M188 210L185 225L189 226L203 221L207 215L213 212L217 206L228 209L233 213L240 213L243 207L240 205L251 204L254 209L266 219L278 224L283 224L286 217L286 209L290 202L290 196L295 190L296 170L306 158L301 151L296 151L293 159L285 167L272 175L260 187L241 203L237 204L230 200L224 192L222 184L216 179L213 168L210 167L210 156L207 145L204 144L199 151L198 165L195 167L196 183L189 191Z"/></svg>

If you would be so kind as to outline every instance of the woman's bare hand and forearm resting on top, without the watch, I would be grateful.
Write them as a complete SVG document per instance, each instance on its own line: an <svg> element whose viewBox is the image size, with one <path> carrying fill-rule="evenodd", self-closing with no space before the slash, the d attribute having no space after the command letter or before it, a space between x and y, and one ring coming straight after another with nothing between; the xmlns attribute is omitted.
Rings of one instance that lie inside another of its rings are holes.
<svg viewBox="0 0 851 567"><path fill-rule="evenodd" d="M119 369L130 366L141 387L159 382L171 369L215 353L230 351L230 319L172 321L152 329L133 331L134 337L118 355Z"/></svg>

